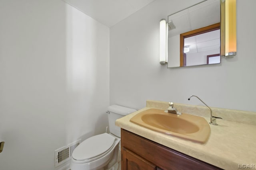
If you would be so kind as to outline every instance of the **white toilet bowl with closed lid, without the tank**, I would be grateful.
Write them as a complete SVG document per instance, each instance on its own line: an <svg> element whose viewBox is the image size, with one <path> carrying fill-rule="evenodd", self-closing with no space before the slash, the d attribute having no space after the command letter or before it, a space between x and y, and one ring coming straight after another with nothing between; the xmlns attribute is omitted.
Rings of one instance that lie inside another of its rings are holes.
<svg viewBox="0 0 256 170"><path fill-rule="evenodd" d="M120 138L114 137L108 133L103 133L86 139L78 145L72 153L70 169L100 170L113 162L110 164L109 168L111 168L111 166L117 162L119 142ZM110 162L110 160L112 160L112 162Z"/></svg>

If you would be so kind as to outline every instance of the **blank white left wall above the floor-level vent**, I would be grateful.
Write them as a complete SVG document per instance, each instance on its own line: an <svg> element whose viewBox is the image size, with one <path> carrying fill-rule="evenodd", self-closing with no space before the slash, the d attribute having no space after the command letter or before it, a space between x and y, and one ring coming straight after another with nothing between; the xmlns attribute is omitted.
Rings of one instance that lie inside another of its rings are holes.
<svg viewBox="0 0 256 170"><path fill-rule="evenodd" d="M109 28L61 0L0 4L0 169L54 170L108 125Z"/></svg>

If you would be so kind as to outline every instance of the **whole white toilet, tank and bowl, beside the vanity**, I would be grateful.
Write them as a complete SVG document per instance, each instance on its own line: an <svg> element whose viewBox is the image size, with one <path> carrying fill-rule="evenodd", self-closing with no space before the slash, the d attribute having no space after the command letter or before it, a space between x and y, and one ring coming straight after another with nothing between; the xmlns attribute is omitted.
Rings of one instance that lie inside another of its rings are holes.
<svg viewBox="0 0 256 170"><path fill-rule="evenodd" d="M78 145L72 153L70 170L118 170L121 131L115 121L134 111L128 107L109 106L107 113L110 133L95 135Z"/></svg>

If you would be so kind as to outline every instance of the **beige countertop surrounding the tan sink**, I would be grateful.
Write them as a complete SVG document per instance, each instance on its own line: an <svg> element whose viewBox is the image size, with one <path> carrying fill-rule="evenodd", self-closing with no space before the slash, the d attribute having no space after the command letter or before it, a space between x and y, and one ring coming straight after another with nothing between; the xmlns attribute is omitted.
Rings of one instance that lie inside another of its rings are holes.
<svg viewBox="0 0 256 170"><path fill-rule="evenodd" d="M211 134L208 141L204 144L194 143L178 137L158 133L130 122L130 119L140 113L140 111L150 108L165 109L166 107L166 102L163 102L163 105L159 105L159 103L156 105L150 102L152 101L147 101L147 107L116 120L116 125L156 143L226 170L246 167L248 169L249 166L250 168L256 168L256 125L253 123L249 125L244 122L239 123L218 119L218 126L210 125ZM214 109L212 110L214 113ZM221 112L222 109L218 109L218 111ZM251 113L249 112L249 115L254 119L255 115ZM221 114L216 116L221 117ZM204 118L206 121L209 121L210 115L209 118Z"/></svg>

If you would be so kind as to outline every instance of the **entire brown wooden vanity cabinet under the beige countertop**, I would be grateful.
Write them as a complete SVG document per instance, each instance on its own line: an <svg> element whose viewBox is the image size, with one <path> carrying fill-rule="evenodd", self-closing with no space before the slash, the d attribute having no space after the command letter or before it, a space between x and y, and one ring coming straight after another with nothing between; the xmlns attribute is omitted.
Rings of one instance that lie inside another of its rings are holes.
<svg viewBox="0 0 256 170"><path fill-rule="evenodd" d="M216 166L121 129L122 170L220 170Z"/></svg>

